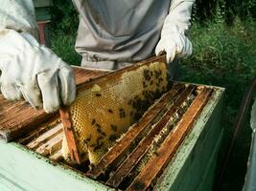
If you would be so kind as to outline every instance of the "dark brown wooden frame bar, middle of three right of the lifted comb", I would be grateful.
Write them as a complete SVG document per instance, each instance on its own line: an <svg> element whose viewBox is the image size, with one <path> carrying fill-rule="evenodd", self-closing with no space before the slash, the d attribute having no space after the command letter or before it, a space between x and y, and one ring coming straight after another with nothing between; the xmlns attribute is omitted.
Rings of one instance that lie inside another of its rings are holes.
<svg viewBox="0 0 256 191"><path fill-rule="evenodd" d="M139 145L132 151L128 158L118 167L115 173L107 180L106 184L118 187L128 174L132 171L135 165L144 157L150 148L153 138L161 132L161 130L169 123L170 118L181 107L181 104L187 99L188 96L196 89L196 86L189 86L180 96L177 97L172 107L168 112L152 127L149 134L141 140Z"/></svg>

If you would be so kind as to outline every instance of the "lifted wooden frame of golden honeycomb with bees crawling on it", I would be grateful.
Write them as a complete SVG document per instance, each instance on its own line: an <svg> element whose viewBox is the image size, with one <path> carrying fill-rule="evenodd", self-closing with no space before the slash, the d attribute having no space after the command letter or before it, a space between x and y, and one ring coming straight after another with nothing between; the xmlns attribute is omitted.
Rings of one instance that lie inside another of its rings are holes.
<svg viewBox="0 0 256 191"><path fill-rule="evenodd" d="M163 55L81 84L75 102L60 110L67 140L62 151L73 162L97 164L167 89Z"/></svg>

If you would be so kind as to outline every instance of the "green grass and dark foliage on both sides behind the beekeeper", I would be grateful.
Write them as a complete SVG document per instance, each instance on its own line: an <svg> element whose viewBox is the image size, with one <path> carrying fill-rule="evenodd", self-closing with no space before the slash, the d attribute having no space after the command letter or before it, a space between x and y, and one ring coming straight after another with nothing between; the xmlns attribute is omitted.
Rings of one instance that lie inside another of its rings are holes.
<svg viewBox="0 0 256 191"><path fill-rule="evenodd" d="M79 65L81 56L74 49L77 11L70 0L54 0L52 14L52 49L67 63ZM194 53L182 60L180 80L226 88L220 167L245 88L256 76L256 0L198 0L192 18L189 36ZM242 189L249 144L250 128L245 122L221 190Z"/></svg>

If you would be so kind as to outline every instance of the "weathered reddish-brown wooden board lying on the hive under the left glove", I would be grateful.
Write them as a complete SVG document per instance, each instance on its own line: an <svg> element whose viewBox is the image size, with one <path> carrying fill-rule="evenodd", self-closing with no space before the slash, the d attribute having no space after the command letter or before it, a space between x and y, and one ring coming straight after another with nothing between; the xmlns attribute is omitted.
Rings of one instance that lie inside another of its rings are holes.
<svg viewBox="0 0 256 191"><path fill-rule="evenodd" d="M77 85L106 73L79 67L74 67L74 69ZM12 141L56 115L58 114L46 114L42 109L35 110L24 100L12 102L0 95L0 139L6 142Z"/></svg>

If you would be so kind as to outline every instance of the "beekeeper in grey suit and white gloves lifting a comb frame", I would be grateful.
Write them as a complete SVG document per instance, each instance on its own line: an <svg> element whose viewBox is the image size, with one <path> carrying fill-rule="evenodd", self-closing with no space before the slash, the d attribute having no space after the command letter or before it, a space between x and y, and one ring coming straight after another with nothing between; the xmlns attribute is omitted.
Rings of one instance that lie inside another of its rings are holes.
<svg viewBox="0 0 256 191"><path fill-rule="evenodd" d="M80 13L81 66L116 70L166 52L167 62L192 53L186 36L195 0L73 0ZM47 113L76 96L73 70L37 41L32 0L0 0L0 87ZM170 65L172 66L172 65Z"/></svg>

